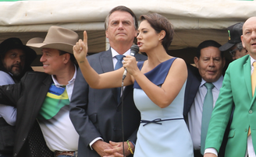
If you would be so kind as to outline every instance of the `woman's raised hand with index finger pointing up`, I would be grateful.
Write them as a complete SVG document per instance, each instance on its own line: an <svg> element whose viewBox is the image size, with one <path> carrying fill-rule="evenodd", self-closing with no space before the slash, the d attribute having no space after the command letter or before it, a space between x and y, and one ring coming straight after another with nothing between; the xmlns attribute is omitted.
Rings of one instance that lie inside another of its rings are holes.
<svg viewBox="0 0 256 157"><path fill-rule="evenodd" d="M76 45L73 46L73 54L78 64L84 62L87 57L88 45L87 45L87 32L84 30L84 41L78 40Z"/></svg>

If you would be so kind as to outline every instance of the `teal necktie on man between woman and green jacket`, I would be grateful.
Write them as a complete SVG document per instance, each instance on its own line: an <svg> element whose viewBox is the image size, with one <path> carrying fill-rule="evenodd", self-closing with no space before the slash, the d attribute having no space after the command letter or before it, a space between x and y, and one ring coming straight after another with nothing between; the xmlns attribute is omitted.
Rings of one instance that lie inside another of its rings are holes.
<svg viewBox="0 0 256 157"><path fill-rule="evenodd" d="M201 124L201 154L204 155L205 138L208 131L208 125L212 117L213 109L213 96L212 89L214 85L212 83L204 83L207 88L206 95L204 97L203 113L202 113L202 124Z"/></svg>

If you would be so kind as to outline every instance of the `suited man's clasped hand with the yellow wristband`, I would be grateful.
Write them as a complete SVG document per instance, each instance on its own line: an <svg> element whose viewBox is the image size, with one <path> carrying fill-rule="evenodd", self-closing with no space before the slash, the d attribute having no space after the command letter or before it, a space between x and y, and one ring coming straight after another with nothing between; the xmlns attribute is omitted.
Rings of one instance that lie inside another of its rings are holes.
<svg viewBox="0 0 256 157"><path fill-rule="evenodd" d="M109 155L108 157L123 157L123 142L114 142L114 141L109 141L109 144L112 145L111 149L105 149L105 152L108 152ZM130 147L132 148L134 152L134 146L132 142L130 142ZM125 156L130 155L130 151L128 150L128 145L126 142L124 142L124 153Z"/></svg>

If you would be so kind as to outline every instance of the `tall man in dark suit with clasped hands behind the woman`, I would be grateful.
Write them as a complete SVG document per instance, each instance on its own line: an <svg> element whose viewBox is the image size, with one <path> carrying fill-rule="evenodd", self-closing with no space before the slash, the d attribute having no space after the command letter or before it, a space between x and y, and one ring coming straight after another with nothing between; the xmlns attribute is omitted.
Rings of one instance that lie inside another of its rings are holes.
<svg viewBox="0 0 256 157"><path fill-rule="evenodd" d="M110 49L88 58L90 65L98 74L111 72L119 62L116 56L130 54L130 47L137 36L137 18L125 6L112 9L105 19L105 34L109 40ZM146 56L137 54L137 61L144 61ZM91 89L80 70L77 72L70 103L70 119L80 135L78 154L81 156L98 157L104 155L123 154L104 152L122 143L122 123L124 125L124 140L129 140L134 151L137 139L137 128L140 124L140 113L133 103L133 86L126 86L123 91L123 122L121 114L121 96L118 89ZM109 141L115 141L109 142ZM116 143L117 142L117 143ZM125 155L131 152L126 142Z"/></svg>

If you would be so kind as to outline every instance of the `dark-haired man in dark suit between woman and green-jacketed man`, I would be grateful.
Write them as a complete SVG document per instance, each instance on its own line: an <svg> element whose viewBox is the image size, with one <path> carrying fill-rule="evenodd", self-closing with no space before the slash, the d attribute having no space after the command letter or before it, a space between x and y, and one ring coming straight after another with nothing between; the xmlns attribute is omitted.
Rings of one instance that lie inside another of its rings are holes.
<svg viewBox="0 0 256 157"><path fill-rule="evenodd" d="M213 86L213 104L219 96L219 89L222 86L222 68L225 65L225 58L219 51L221 45L214 40L205 40L197 47L197 56L194 58L196 68L188 65L188 78L185 90L183 116L187 121L191 138L194 145L194 156L201 157L202 142L201 124L203 115L204 97L208 91L205 83ZM207 130L206 130L207 131ZM204 140L204 141L202 141ZM204 148L202 148L204 150Z"/></svg>

